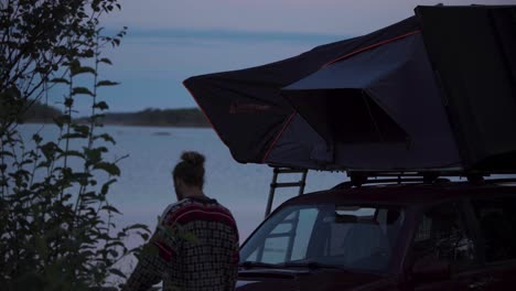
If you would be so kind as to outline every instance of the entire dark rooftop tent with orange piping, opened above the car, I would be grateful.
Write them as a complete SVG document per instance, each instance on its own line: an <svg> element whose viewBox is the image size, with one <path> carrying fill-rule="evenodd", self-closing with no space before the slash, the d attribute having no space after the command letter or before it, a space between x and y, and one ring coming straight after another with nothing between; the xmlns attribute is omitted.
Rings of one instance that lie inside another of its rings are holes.
<svg viewBox="0 0 516 291"><path fill-rule="evenodd" d="M515 172L516 8L416 12L364 36L184 85L238 162Z"/></svg>

